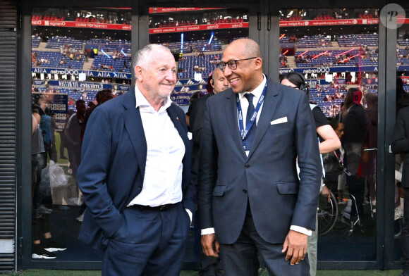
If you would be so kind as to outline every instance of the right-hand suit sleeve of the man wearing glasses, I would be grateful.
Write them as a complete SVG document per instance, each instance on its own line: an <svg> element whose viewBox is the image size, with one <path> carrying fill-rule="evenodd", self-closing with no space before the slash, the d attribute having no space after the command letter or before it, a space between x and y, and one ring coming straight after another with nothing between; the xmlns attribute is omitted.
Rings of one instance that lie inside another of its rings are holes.
<svg viewBox="0 0 409 276"><path fill-rule="evenodd" d="M300 168L300 187L291 225L315 230L322 165L317 130L306 94L300 97L295 122L295 146Z"/></svg>

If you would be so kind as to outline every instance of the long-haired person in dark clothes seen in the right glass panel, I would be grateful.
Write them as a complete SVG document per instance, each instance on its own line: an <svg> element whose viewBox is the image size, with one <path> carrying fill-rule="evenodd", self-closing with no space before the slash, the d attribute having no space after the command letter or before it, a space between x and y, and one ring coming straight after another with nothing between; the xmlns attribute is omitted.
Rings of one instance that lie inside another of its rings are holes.
<svg viewBox="0 0 409 276"><path fill-rule="evenodd" d="M348 89L343 111L340 114L344 126L341 142L345 149L346 169L349 172L348 175L346 173L341 175L341 183L346 184L350 194L355 196L359 215L363 213L365 182L358 176L358 168L368 127L367 113L360 104L361 100L362 92L358 88Z"/></svg>

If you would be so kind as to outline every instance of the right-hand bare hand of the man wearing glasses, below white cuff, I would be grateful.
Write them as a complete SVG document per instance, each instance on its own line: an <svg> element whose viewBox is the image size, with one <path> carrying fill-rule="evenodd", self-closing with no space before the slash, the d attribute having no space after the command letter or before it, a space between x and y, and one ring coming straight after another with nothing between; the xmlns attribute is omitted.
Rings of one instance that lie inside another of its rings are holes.
<svg viewBox="0 0 409 276"><path fill-rule="evenodd" d="M307 235L290 230L283 244L282 253L287 251L286 261L291 259L291 265L298 265L307 253Z"/></svg>

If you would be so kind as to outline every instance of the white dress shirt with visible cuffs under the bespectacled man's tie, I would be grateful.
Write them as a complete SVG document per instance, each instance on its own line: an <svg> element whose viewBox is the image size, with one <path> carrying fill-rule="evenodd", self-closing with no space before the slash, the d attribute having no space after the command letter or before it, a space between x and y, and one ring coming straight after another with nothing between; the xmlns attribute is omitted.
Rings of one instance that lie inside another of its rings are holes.
<svg viewBox="0 0 409 276"><path fill-rule="evenodd" d="M245 128L245 123L246 123L246 118L247 118L247 110L248 110L248 100L247 98L244 96L247 93L252 93L254 96L252 98L252 104L256 107L257 106L257 102L260 100L260 96L262 96L262 92L264 89L264 86L267 82L267 78L266 76L263 74L263 81L262 83L259 84L259 86L257 86L252 92L241 92L238 94L238 99L240 99L240 105L241 105L241 110L243 113L243 127ZM264 105L264 101L262 103L262 105L260 106L260 110L257 113L257 118L255 123L257 124L259 119L260 119L260 114L262 113L262 108ZM240 128L240 126L239 126ZM245 154L248 156L248 153L250 151L245 151ZM297 225L291 225L290 230L296 231L296 232L300 232L303 234L307 234L308 236L312 235L312 230L304 228L304 227L300 227ZM201 234L213 234L214 233L214 228L205 228L201 230Z"/></svg>

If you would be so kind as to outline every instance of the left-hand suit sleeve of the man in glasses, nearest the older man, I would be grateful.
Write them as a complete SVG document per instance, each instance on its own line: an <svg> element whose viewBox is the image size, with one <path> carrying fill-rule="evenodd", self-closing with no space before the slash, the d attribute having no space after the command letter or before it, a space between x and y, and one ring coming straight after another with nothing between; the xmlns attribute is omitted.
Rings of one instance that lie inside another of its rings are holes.
<svg viewBox="0 0 409 276"><path fill-rule="evenodd" d="M206 101L202 136L200 139L200 165L197 177L198 206L200 213L200 227L213 227L212 200L213 189L217 179L217 146L210 118L209 101Z"/></svg>

